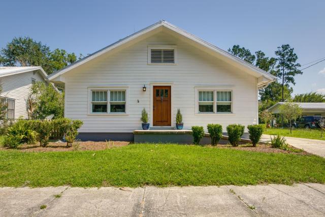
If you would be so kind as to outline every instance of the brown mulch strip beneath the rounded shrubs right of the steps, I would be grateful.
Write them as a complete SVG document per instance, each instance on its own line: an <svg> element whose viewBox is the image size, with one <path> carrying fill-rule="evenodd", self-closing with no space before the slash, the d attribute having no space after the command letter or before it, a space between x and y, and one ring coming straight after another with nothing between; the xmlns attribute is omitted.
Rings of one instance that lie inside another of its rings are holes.
<svg viewBox="0 0 325 217"><path fill-rule="evenodd" d="M290 146L289 148L291 150L282 150L279 148L272 148L271 145L268 144L257 144L256 147L253 147L251 144L242 144L239 145L238 147L233 147L231 145L217 145L217 146L210 146L211 148L229 148L229 149L237 149L237 150L245 150L245 151L256 151L256 152L266 152L266 153L292 153L292 154L303 154L303 155L308 155L310 153Z"/></svg>

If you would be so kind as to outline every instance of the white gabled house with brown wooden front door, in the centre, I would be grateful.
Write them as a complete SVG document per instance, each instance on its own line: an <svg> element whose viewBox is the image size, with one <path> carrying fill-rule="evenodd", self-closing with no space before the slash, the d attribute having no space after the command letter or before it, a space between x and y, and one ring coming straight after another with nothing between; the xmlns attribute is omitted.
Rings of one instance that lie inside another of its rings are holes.
<svg viewBox="0 0 325 217"><path fill-rule="evenodd" d="M184 129L256 124L258 89L276 78L159 21L48 79L65 85L64 115L84 122L80 138L132 140L143 108L150 129L174 128L178 108Z"/></svg>

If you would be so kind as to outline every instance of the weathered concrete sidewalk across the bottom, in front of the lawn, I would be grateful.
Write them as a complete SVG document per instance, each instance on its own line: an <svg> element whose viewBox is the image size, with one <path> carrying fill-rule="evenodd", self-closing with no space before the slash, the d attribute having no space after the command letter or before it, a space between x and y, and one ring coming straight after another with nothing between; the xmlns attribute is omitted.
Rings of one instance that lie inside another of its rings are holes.
<svg viewBox="0 0 325 217"><path fill-rule="evenodd" d="M0 201L1 216L324 216L325 185L0 188Z"/></svg>

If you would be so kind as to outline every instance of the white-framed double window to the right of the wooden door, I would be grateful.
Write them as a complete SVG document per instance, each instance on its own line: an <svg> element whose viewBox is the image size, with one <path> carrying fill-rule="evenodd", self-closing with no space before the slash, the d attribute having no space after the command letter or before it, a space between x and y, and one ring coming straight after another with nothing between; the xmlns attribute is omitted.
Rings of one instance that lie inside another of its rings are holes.
<svg viewBox="0 0 325 217"><path fill-rule="evenodd" d="M199 113L232 113L232 90L198 90Z"/></svg>

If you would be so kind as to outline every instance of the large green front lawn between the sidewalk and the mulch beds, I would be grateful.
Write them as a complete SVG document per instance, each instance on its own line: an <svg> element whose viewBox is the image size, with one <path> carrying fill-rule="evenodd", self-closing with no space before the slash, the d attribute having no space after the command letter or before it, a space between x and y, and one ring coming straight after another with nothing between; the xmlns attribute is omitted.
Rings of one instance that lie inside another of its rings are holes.
<svg viewBox="0 0 325 217"><path fill-rule="evenodd" d="M0 151L0 186L139 187L325 183L325 159L175 144L100 151Z"/></svg>

